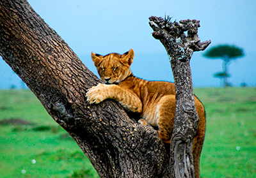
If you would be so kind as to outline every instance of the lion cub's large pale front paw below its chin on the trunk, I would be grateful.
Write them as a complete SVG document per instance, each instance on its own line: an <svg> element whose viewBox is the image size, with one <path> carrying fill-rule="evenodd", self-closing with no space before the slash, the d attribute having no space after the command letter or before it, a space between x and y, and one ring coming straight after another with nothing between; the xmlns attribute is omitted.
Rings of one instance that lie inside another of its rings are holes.
<svg viewBox="0 0 256 178"><path fill-rule="evenodd" d="M103 100L106 100L108 98L106 94L106 89L108 88L108 85L106 84L98 84L95 87L92 87L88 90L86 93L87 101L92 104L98 104Z"/></svg>

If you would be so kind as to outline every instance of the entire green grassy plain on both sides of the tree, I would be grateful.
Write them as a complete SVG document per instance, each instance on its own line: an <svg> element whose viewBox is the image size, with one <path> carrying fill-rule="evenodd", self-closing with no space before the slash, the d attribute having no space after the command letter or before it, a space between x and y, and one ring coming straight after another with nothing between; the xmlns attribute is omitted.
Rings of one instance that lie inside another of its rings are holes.
<svg viewBox="0 0 256 178"><path fill-rule="evenodd" d="M207 112L202 177L256 177L256 88L196 88L195 94ZM26 123L3 123L12 118ZM31 91L3 90L0 177L97 177L97 173Z"/></svg>

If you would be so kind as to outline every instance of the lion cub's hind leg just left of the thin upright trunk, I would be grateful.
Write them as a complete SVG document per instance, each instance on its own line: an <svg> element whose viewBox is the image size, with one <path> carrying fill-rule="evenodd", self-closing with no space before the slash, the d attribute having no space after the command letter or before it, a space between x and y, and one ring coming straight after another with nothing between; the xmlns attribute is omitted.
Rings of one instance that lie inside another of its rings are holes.
<svg viewBox="0 0 256 178"><path fill-rule="evenodd" d="M158 133L163 142L170 144L175 117L175 95L166 95L157 103Z"/></svg>

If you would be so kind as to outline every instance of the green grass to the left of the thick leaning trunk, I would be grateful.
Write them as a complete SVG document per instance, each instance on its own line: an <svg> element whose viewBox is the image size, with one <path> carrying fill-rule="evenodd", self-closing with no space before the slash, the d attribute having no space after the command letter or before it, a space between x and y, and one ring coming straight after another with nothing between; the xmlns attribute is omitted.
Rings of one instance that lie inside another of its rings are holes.
<svg viewBox="0 0 256 178"><path fill-rule="evenodd" d="M0 91L0 177L97 177L76 142L47 114L31 91Z"/></svg>

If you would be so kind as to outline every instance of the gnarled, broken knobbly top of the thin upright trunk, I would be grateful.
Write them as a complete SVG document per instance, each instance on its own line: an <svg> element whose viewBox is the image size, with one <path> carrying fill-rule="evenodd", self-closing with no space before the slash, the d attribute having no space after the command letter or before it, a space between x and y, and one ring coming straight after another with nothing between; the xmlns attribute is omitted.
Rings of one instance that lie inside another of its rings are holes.
<svg viewBox="0 0 256 178"><path fill-rule="evenodd" d="M152 35L160 40L166 48L168 55L179 56L180 61L191 58L193 52L205 50L211 40L200 42L198 37L199 20L180 20L180 22L170 22L162 17L150 17L150 27L154 30ZM184 32L188 31L188 35ZM190 57L188 57L190 56Z"/></svg>

